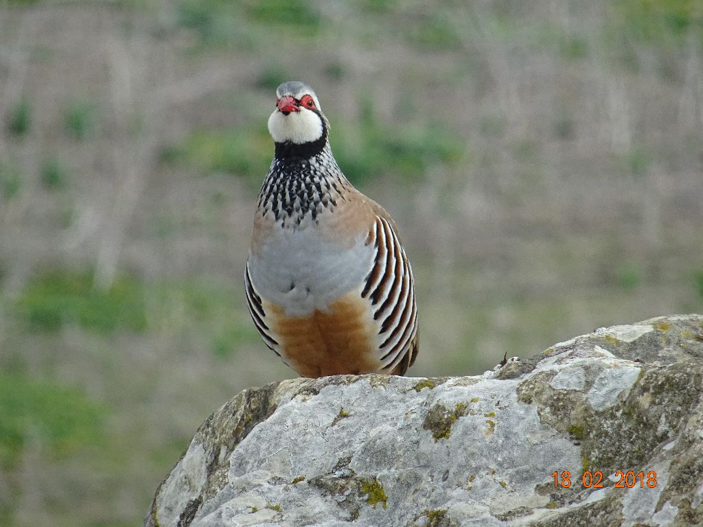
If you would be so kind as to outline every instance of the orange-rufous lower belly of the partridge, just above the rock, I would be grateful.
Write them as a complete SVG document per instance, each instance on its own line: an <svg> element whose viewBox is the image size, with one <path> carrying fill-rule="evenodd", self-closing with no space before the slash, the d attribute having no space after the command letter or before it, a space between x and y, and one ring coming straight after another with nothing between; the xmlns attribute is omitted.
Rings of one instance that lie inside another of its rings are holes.
<svg viewBox="0 0 703 527"><path fill-rule="evenodd" d="M279 351L299 375L359 375L380 368L375 324L368 301L358 292L302 317L290 317L280 306L267 304Z"/></svg>

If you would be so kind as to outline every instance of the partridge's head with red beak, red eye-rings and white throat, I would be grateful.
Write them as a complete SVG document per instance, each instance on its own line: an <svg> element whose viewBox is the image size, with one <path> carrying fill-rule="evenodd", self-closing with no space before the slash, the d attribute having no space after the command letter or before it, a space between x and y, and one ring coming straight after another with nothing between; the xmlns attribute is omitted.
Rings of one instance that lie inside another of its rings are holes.
<svg viewBox="0 0 703 527"><path fill-rule="evenodd" d="M269 133L276 143L302 145L326 138L329 124L315 92L302 82L284 82L276 90L276 110Z"/></svg>

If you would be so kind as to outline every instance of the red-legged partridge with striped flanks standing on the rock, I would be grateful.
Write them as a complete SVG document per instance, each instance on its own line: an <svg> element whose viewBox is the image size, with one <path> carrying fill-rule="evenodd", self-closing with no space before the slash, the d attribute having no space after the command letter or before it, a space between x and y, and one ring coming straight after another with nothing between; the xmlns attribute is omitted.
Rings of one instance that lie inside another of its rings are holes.
<svg viewBox="0 0 703 527"><path fill-rule="evenodd" d="M404 375L418 354L413 273L389 214L344 177L302 82L276 90L276 154L245 287L266 345L304 377Z"/></svg>

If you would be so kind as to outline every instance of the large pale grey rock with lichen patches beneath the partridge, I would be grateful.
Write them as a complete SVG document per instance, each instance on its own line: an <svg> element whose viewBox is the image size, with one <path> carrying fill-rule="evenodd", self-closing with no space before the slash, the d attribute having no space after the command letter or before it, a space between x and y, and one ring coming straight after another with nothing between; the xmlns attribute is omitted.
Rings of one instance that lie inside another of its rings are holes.
<svg viewBox="0 0 703 527"><path fill-rule="evenodd" d="M285 380L207 418L144 524L703 526L702 391L702 315L479 377Z"/></svg>

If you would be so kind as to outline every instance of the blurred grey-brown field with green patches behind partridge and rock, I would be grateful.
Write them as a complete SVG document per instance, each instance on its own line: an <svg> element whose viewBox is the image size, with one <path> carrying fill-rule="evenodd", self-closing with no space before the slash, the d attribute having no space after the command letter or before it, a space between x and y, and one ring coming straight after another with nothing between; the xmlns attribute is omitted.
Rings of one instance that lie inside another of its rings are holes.
<svg viewBox="0 0 703 527"><path fill-rule="evenodd" d="M0 2L0 525L141 523L212 410L294 372L243 265L289 79L470 375L703 308L703 2Z"/></svg>

